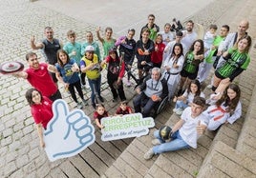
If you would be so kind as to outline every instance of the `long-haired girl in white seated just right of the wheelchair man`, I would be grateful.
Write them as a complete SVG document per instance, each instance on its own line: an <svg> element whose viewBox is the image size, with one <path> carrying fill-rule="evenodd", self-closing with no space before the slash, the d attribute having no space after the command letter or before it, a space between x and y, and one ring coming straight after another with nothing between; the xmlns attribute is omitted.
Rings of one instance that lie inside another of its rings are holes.
<svg viewBox="0 0 256 178"><path fill-rule="evenodd" d="M190 106L195 96L205 97L204 93L201 91L201 85L198 80L192 80L181 96L174 97L173 101L176 102L176 105L173 111L181 115L182 111Z"/></svg>

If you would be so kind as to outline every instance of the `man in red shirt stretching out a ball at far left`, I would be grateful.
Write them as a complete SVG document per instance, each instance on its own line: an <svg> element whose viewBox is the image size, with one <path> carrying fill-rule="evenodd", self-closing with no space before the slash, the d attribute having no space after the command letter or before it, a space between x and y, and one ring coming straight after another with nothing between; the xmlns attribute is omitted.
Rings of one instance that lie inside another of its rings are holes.
<svg viewBox="0 0 256 178"><path fill-rule="evenodd" d="M49 71L55 72L52 65L39 63L36 53L29 52L26 54L26 60L30 66L25 71L13 73L15 77L27 79L33 88L42 92L43 96L48 97L52 101L61 99L61 94L53 82Z"/></svg>

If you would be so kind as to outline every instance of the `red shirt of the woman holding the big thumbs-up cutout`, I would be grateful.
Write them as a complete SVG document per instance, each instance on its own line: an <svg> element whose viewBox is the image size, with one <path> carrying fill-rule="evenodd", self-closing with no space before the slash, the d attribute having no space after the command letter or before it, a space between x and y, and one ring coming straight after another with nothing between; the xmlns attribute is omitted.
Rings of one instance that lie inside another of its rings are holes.
<svg viewBox="0 0 256 178"><path fill-rule="evenodd" d="M41 105L32 105L32 117L35 124L42 124L46 129L47 124L53 118L53 101L48 99L46 96L42 98Z"/></svg>

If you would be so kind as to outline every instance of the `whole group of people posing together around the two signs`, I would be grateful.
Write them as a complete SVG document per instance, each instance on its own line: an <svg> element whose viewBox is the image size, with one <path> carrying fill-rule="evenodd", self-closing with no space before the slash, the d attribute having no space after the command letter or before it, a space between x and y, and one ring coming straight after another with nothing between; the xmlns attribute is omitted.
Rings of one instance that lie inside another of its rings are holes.
<svg viewBox="0 0 256 178"><path fill-rule="evenodd" d="M113 102L117 102L118 98L121 101L116 114L132 113L127 106L123 83L128 87L132 85L131 74L126 71L133 67L137 59L139 78L143 78L143 73L147 76L136 89L138 95L133 100L135 112L141 112L143 117L150 116L151 110L168 97L169 101L176 102L173 111L181 115L181 121L172 129L171 142L160 139L156 131L158 141L155 140L154 145L158 146L145 154L145 158L149 159L154 154L168 150L196 148L197 138L203 130L218 129L225 122L232 124L241 116L240 89L232 81L250 62L248 50L251 39L246 33L248 25L243 20L238 31L233 33L228 33L229 27L224 25L220 34L216 33L217 26L211 25L204 38L198 39L193 21L186 22L185 30L173 31L173 26L166 23L160 31L155 24L154 14L149 14L148 23L140 30L138 41L134 39L136 31L133 29L116 40L112 37L111 28L105 29L103 37L100 28L97 28L96 37L102 45L103 55L91 31L86 32L86 41L80 44L75 41L75 31L69 30L68 42L63 45L60 40L53 38L53 29L46 27L44 40L36 43L34 37L31 39L32 49L42 49L46 63L39 63L36 53L29 52L26 55L29 69L13 75L27 79L33 87L27 91L26 98L32 107L40 143L44 147L42 129L46 129L53 117L50 106L54 100L62 98L57 82L69 90L77 108L82 109L88 105L82 90L87 78L91 88L91 104L96 109L96 126L103 129L100 119L108 116L108 112L102 104L105 99L100 92L101 70L107 69ZM205 109L201 85L212 67L215 72L209 87L213 94L207 100L210 106ZM127 79L124 80L126 73ZM75 89L82 102L78 102ZM97 105L97 100L101 104ZM172 144L175 146L171 147Z"/></svg>

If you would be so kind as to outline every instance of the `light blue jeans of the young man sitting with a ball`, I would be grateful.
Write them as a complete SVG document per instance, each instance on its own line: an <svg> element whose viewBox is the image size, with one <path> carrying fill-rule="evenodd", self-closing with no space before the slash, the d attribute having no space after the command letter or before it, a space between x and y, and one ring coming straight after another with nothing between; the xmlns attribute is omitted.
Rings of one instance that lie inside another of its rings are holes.
<svg viewBox="0 0 256 178"><path fill-rule="evenodd" d="M160 154L162 152L167 152L167 151L173 151L173 150L179 150L183 148L190 148L189 145L187 145L186 142L183 141L181 138L179 130L174 132L172 134L172 140L170 142L165 142L160 138L160 130L156 130L154 132L154 136L160 140L160 145L154 146L153 151L155 154Z"/></svg>

